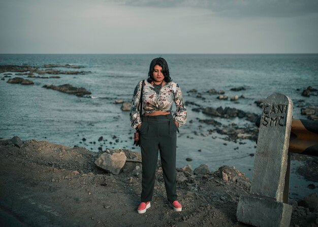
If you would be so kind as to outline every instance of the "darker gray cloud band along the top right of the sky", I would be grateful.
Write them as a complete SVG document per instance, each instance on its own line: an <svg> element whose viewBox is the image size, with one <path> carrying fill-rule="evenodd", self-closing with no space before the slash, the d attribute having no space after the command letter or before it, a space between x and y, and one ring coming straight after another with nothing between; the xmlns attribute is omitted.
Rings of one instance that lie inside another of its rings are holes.
<svg viewBox="0 0 318 227"><path fill-rule="evenodd" d="M219 16L294 17L318 13L317 0L117 0L135 7L190 7L209 9Z"/></svg>

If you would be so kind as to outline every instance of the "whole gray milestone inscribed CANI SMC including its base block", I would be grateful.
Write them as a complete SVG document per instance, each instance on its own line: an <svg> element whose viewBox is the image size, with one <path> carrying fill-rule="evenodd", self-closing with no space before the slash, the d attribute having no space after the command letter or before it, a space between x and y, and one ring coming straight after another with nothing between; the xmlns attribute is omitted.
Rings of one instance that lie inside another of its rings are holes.
<svg viewBox="0 0 318 227"><path fill-rule="evenodd" d="M283 203L283 192L292 115L293 102L288 96L272 94L265 100L250 193L240 197L237 207L241 222L255 226L290 224L292 206Z"/></svg>

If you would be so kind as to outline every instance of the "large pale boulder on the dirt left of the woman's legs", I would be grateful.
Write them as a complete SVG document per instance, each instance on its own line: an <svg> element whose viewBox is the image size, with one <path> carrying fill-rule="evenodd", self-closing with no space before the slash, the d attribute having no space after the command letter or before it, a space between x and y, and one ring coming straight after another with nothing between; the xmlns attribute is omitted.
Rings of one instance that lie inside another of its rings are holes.
<svg viewBox="0 0 318 227"><path fill-rule="evenodd" d="M124 152L119 153L103 153L95 161L95 165L112 174L119 174L121 168L125 165L126 155Z"/></svg>

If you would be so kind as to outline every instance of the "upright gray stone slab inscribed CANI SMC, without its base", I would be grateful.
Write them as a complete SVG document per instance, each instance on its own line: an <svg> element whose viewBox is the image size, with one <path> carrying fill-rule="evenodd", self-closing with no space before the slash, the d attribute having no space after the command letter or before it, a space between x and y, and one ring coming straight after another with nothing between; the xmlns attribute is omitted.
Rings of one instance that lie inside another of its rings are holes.
<svg viewBox="0 0 318 227"><path fill-rule="evenodd" d="M272 94L264 101L250 193L282 202L292 115L288 96Z"/></svg>

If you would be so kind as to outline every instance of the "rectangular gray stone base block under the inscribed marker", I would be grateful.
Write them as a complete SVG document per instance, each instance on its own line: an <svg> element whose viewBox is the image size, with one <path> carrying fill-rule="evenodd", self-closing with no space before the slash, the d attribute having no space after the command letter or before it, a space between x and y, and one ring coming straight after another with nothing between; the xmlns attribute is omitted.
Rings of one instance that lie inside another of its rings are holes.
<svg viewBox="0 0 318 227"><path fill-rule="evenodd" d="M241 195L237 206L238 221L260 227L289 226L293 207L251 195Z"/></svg>

